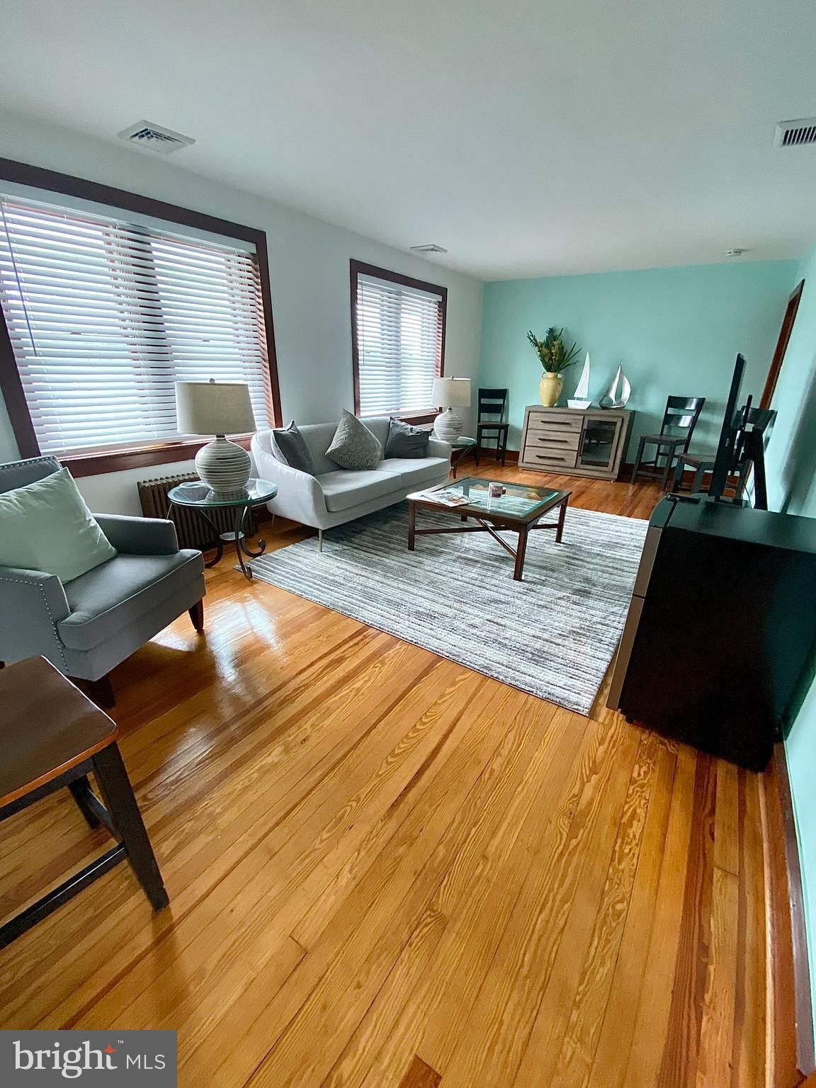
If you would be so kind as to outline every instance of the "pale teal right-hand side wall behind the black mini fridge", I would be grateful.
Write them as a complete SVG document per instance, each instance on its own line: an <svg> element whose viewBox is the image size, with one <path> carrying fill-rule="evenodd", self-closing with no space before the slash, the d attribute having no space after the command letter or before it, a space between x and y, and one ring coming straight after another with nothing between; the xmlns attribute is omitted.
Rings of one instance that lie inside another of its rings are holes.
<svg viewBox="0 0 816 1088"><path fill-rule="evenodd" d="M805 281L796 321L774 395L779 412L768 443L769 504L777 510L816 518L816 246L790 284ZM816 605L816 586L805 607ZM811 676L816 671L816 647ZM812 682L786 740L793 794L811 984L816 1005L816 682Z"/></svg>

